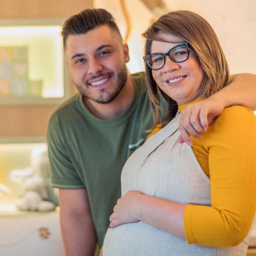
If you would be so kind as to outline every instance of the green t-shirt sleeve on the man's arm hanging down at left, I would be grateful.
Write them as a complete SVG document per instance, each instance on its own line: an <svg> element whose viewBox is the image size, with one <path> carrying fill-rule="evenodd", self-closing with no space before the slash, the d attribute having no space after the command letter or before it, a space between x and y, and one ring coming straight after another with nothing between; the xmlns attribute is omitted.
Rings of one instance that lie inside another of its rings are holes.
<svg viewBox="0 0 256 256"><path fill-rule="evenodd" d="M49 120L46 136L52 185L55 188L84 188L85 186L69 157L68 145L63 136L59 118L53 114Z"/></svg>

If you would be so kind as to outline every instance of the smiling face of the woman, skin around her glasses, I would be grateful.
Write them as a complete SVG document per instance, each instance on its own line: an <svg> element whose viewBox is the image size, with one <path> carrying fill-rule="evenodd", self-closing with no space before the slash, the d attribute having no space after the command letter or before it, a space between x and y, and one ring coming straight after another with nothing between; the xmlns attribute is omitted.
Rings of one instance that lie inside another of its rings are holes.
<svg viewBox="0 0 256 256"><path fill-rule="evenodd" d="M151 53L167 53L175 45L184 42L172 34L158 33L158 36L167 42L153 41ZM193 49L190 49L188 60L181 63L174 62L166 56L163 68L152 70L152 75L158 87L178 105L202 97L198 91L203 80L203 69Z"/></svg>

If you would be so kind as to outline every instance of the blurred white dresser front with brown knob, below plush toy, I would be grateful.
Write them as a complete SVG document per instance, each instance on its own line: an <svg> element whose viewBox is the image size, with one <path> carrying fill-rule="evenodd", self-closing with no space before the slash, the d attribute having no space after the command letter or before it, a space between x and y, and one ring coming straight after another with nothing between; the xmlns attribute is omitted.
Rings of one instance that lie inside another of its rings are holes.
<svg viewBox="0 0 256 256"><path fill-rule="evenodd" d="M58 211L0 211L0 256L64 256Z"/></svg>

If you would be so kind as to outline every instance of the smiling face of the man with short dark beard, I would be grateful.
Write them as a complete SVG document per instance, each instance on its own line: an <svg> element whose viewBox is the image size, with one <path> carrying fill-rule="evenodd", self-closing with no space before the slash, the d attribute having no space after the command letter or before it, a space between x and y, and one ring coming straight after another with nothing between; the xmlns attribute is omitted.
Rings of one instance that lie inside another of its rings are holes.
<svg viewBox="0 0 256 256"><path fill-rule="evenodd" d="M124 87L128 47L122 45L120 36L109 26L69 35L65 54L75 86L89 100L109 103Z"/></svg>

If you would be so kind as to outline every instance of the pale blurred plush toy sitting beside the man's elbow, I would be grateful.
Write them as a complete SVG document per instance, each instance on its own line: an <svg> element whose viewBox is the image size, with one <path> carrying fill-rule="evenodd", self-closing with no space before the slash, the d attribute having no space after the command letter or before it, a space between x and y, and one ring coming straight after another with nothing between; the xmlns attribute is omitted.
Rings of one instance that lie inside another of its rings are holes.
<svg viewBox="0 0 256 256"><path fill-rule="evenodd" d="M35 147L30 166L12 170L11 181L23 187L22 197L15 203L21 211L52 211L58 205L56 193L50 184L50 166L47 147Z"/></svg>

